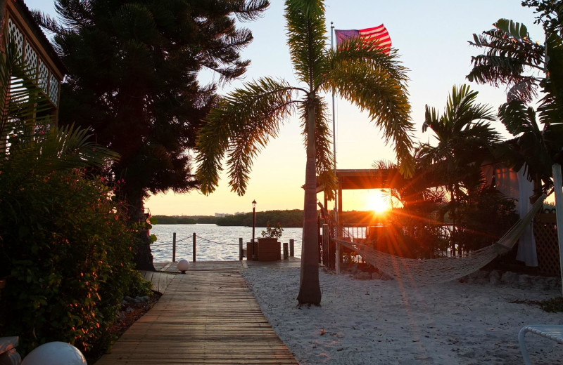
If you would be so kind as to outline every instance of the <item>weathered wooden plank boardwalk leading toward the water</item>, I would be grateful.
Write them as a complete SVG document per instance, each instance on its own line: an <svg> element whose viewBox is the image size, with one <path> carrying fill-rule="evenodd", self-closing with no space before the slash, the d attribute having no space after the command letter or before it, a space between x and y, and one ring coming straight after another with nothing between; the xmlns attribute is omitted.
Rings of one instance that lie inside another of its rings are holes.
<svg viewBox="0 0 563 365"><path fill-rule="evenodd" d="M153 309L96 365L298 364L241 274L205 266L194 270L190 263L186 274L175 275Z"/></svg>

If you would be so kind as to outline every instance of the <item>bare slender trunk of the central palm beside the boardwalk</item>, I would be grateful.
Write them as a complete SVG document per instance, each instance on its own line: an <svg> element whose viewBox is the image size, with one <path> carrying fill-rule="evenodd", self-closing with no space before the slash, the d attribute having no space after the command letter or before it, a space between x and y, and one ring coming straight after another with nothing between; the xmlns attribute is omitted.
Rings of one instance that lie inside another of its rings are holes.
<svg viewBox="0 0 563 365"><path fill-rule="evenodd" d="M315 105L309 97L307 116L307 164L305 166L305 206L299 305L320 305L319 251L317 249L317 169L315 168Z"/></svg>

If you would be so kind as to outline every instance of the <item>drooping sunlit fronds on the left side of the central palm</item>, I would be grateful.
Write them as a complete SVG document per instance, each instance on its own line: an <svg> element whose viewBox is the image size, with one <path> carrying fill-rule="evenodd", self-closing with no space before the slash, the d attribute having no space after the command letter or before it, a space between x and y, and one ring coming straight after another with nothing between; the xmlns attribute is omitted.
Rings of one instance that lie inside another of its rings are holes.
<svg viewBox="0 0 563 365"><path fill-rule="evenodd" d="M293 111L296 91L286 81L263 78L237 88L219 102L201 128L196 147L196 175L203 194L215 191L225 155L232 191L246 192L253 159L270 137L277 136L279 124Z"/></svg>

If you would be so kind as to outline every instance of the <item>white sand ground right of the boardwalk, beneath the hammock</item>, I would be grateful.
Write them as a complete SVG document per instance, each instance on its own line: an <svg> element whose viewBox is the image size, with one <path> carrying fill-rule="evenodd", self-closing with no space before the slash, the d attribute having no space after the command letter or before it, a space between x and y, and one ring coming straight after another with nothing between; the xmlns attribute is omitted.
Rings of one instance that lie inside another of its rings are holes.
<svg viewBox="0 0 563 365"><path fill-rule="evenodd" d="M250 267L262 312L302 365L524 364L518 331L563 324L562 313L513 300L561 296L557 288L507 284L403 287L320 272L321 307L297 307L298 267ZM563 364L563 345L526 336L534 365Z"/></svg>

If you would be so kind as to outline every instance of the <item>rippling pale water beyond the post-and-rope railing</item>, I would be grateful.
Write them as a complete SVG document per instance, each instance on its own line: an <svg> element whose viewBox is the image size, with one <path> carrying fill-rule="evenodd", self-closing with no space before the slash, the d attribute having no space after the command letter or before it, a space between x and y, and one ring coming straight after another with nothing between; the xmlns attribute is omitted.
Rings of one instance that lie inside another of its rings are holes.
<svg viewBox="0 0 563 365"><path fill-rule="evenodd" d="M265 227L255 228L255 238L262 237L260 232ZM151 234L158 238L151 245L155 263L172 261L172 234L176 232L176 260L185 258L191 261L193 234L196 233L196 260L226 261L239 260L239 237L243 246L252 239L252 227L219 225L153 225ZM295 255L301 257L300 228L284 228L278 239L280 242L295 241Z"/></svg>

